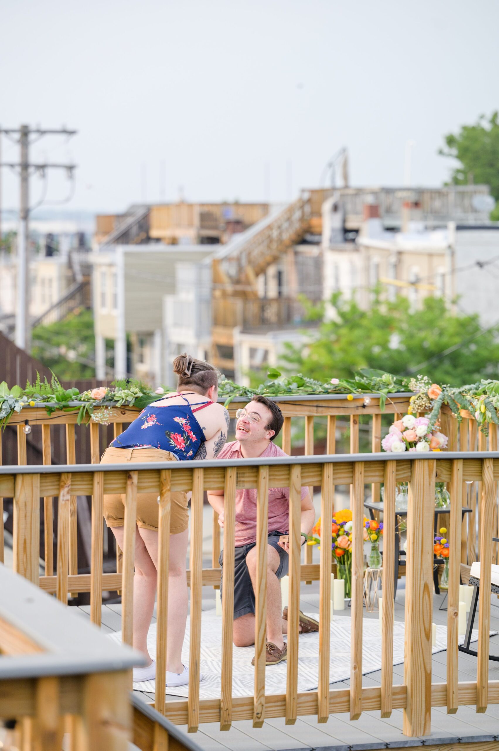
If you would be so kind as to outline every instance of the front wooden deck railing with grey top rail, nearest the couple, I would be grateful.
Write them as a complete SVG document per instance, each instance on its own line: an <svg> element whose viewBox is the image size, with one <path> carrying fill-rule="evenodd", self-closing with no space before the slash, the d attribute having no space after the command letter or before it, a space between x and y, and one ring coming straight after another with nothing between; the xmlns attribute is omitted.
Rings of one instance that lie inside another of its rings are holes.
<svg viewBox="0 0 499 751"><path fill-rule="evenodd" d="M453 421L457 426L457 421ZM395 487L409 483L407 515L407 566L405 595L404 683L393 685L393 591L395 556ZM449 597L447 620L447 680L431 681L431 611L433 600L433 517L434 483L449 483L452 503L449 516ZM488 680L490 598L484 597L479 609L477 678L458 681L458 598L461 553L461 508L468 482L481 487L480 555L492 560L492 530L497 523L497 451L449 451L431 454L329 454L305 457L276 457L249 460L214 460L190 463L134 463L122 465L4 466L0 468L0 496L14 496L14 569L42 589L56 592L65 603L69 591L90 590L92 622L101 621L102 591L122 590L122 638L131 644L134 533L137 493L158 493L158 608L157 676L155 710L175 724L188 724L191 731L200 723L220 722L229 728L238 719L252 719L261 726L264 719L285 717L293 724L297 716L317 715L325 722L330 714L350 712L358 719L362 712L379 710L387 717L393 709L404 710L404 734L427 735L431 732L431 707L447 707L449 713L461 704L485 711L488 704L499 703L499 681ZM383 622L381 686L362 686L362 593L365 485L384 484L383 534ZM350 688L329 686L329 635L332 550L320 547L317 566L300 561L300 489L321 488L321 516L331 518L335 486L350 486L353 511L353 562L351 599ZM280 695L266 695L265 623L266 623L266 531L268 488L290 487L290 596L288 606L287 683ZM257 559L260 586L255 593L254 695L233 697L233 578L236 489L257 488ZM203 584L213 584L213 569L203 569L203 493L224 489L224 562L221 620L221 695L200 701L200 622ZM164 680L167 644L167 577L170 544L170 493L191 491L191 639L190 685L188 700L165 701ZM125 496L125 550L121 575L102 572L102 510L105 493ZM71 496L92 496L92 570L90 575L70 572ZM58 555L56 575L40 576L38 567L38 520L40 498L59 497ZM298 637L299 582L311 578L317 568L320 581L319 680L317 691L299 693ZM482 569L482 591L490 590L491 570Z"/></svg>

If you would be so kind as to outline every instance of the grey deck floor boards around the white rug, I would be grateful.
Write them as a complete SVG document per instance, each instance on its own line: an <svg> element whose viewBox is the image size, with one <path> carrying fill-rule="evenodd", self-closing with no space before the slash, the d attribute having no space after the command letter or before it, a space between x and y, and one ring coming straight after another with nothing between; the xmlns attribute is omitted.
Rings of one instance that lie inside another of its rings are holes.
<svg viewBox="0 0 499 751"><path fill-rule="evenodd" d="M404 586L404 580L399 582ZM318 612L319 584L302 584L302 610ZM446 625L446 611L438 608L443 596L434 596L433 621ZM203 588L203 611L215 608L215 595L210 587ZM82 617L89 618L89 608L78 608ZM349 609L344 615L350 613ZM364 613L364 617L377 614ZM404 620L404 589L397 592L395 620ZM476 621L477 623L477 621ZM121 605L103 605L102 628L107 632L121 629ZM491 629L499 631L499 599L491 598ZM499 636L491 638L491 652L499 655ZM446 653L440 652L432 659L433 680L446 681ZM404 666L393 668L394 683L403 683ZM459 653L459 680L476 679L476 658ZM363 686L380 686L380 671L363 677ZM489 680L499 680L499 663L489 662ZM348 681L343 681L348 686ZM341 683L335 683L341 688ZM153 695L142 694L154 701ZM167 696L167 701L176 701ZM263 728L253 728L251 720L234 722L230 731L221 732L218 723L203 724L200 731L190 735L206 751L234 749L234 751L268 751L268 749L323 749L323 751L363 751L363 749L397 748L400 746L421 746L431 743L458 743L473 741L499 741L499 705L491 705L484 714L476 714L473 707L459 707L458 712L447 715L445 707L431 710L431 736L407 738L402 734L402 710L393 710L388 719L380 719L379 712L362 713L360 719L350 722L347 714L335 714L329 722L317 725L314 716L299 717L295 725L285 725L284 719L266 720ZM187 731L187 727L182 727Z"/></svg>

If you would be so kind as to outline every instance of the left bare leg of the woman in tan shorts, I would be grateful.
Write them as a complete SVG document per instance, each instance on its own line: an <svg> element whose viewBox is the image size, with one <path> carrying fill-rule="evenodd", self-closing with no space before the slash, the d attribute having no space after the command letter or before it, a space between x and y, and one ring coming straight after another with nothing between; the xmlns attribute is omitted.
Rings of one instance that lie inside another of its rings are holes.
<svg viewBox="0 0 499 751"><path fill-rule="evenodd" d="M111 527L119 547L123 550L124 527ZM144 531L144 530L142 530ZM158 537L158 532L152 532ZM134 648L152 662L147 649L147 632L151 625L156 595L157 572L155 563L147 552L139 529L135 529L135 575L134 575Z"/></svg>

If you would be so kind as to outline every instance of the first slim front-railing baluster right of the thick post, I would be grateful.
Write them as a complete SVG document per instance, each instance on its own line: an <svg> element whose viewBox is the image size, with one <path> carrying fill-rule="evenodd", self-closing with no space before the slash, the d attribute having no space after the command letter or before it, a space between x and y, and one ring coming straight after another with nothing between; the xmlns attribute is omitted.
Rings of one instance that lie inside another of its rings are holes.
<svg viewBox="0 0 499 751"><path fill-rule="evenodd" d="M452 461L449 521L449 593L447 599L447 713L458 710L458 615L461 572L462 459Z"/></svg>

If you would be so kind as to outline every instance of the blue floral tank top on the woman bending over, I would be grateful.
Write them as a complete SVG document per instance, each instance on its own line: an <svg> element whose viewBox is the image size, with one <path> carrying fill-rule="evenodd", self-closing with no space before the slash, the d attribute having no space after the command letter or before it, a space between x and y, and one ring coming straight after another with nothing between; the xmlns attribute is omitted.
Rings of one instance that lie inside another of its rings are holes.
<svg viewBox="0 0 499 751"><path fill-rule="evenodd" d="M181 461L194 459L200 445L206 440L194 412L213 402L200 402L191 406L182 394L172 394L166 398L173 397L182 397L185 404L149 404L140 412L138 418L110 443L110 446L162 448L164 451L171 451Z"/></svg>

